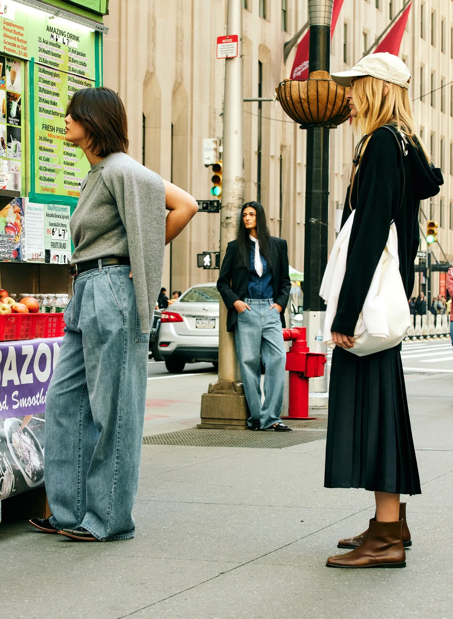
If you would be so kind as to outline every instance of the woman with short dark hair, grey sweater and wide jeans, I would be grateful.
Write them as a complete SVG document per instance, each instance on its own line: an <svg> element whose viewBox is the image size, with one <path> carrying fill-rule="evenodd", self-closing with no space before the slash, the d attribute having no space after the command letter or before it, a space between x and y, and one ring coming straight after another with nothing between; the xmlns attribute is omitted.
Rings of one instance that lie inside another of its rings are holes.
<svg viewBox="0 0 453 619"><path fill-rule="evenodd" d="M30 522L78 541L129 539L164 246L198 206L127 155L126 112L113 90L78 90L64 120L66 140L81 146L90 171L69 223L73 296L46 397L53 515Z"/></svg>

